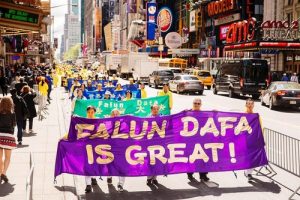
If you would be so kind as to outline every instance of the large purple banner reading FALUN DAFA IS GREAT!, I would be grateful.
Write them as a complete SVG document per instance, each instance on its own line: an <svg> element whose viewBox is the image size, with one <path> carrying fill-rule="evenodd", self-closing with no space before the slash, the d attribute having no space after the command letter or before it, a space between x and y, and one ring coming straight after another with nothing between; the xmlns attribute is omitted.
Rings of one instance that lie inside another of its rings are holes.
<svg viewBox="0 0 300 200"><path fill-rule="evenodd" d="M258 114L183 111L106 119L73 117L55 177L146 176L242 170L268 163Z"/></svg>

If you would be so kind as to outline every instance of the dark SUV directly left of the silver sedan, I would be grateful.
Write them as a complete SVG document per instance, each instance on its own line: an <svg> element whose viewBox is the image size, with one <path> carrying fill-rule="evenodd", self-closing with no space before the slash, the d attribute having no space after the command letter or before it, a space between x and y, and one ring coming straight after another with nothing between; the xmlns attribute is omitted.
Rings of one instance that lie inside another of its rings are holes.
<svg viewBox="0 0 300 200"><path fill-rule="evenodd" d="M173 78L174 73L169 69L156 70L149 76L149 86L153 85L155 88L158 88L158 86L168 83Z"/></svg>

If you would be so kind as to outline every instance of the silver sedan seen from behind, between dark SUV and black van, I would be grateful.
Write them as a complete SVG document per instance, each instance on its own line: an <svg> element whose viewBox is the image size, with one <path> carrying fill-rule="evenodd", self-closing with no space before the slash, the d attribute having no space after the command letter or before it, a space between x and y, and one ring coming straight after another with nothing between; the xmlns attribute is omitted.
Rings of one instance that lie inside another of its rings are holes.
<svg viewBox="0 0 300 200"><path fill-rule="evenodd" d="M197 92L202 95L204 90L203 83L193 75L179 75L169 81L170 90L183 93L183 92Z"/></svg>

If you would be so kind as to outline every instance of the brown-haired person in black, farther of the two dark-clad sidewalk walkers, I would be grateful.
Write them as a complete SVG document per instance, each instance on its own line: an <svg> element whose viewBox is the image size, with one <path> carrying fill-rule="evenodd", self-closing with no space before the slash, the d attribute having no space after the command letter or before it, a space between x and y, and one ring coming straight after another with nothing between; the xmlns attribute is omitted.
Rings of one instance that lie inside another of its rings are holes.
<svg viewBox="0 0 300 200"><path fill-rule="evenodd" d="M34 103L34 98L36 97L36 93L31 89L29 86L24 86L22 89L22 94L21 97L24 99L27 108L28 108L28 116L26 119L24 119L23 122L23 130L25 133L26 132L26 123L27 119L29 121L29 132L28 133L33 133L32 127L33 127L33 118L37 116L36 109L35 109L35 103Z"/></svg>

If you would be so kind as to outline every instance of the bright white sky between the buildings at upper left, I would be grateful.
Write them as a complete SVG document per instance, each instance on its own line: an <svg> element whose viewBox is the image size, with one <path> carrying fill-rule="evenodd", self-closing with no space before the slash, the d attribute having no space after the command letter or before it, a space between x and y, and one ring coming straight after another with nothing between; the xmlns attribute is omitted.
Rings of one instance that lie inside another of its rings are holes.
<svg viewBox="0 0 300 200"><path fill-rule="evenodd" d="M54 37L58 38L59 47L61 35L64 33L65 14L68 12L67 2L68 0L51 0L51 15L54 16Z"/></svg>

